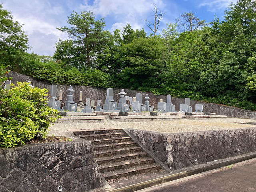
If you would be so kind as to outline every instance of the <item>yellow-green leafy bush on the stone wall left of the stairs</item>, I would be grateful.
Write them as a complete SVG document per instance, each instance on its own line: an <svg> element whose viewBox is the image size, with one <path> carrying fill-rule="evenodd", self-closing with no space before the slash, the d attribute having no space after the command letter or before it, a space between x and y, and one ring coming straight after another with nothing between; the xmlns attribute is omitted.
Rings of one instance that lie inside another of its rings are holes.
<svg viewBox="0 0 256 192"><path fill-rule="evenodd" d="M0 90L0 146L14 147L35 136L46 137L50 124L59 117L57 110L47 106L47 92L27 82Z"/></svg>

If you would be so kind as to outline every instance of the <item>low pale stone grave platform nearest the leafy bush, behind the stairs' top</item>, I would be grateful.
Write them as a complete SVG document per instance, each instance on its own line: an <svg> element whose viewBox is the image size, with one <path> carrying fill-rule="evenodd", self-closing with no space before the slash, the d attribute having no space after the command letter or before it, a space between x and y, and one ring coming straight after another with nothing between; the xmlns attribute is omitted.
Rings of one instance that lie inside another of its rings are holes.
<svg viewBox="0 0 256 192"><path fill-rule="evenodd" d="M104 122L104 117L102 116L64 116L58 120L56 123L95 123L95 122Z"/></svg>

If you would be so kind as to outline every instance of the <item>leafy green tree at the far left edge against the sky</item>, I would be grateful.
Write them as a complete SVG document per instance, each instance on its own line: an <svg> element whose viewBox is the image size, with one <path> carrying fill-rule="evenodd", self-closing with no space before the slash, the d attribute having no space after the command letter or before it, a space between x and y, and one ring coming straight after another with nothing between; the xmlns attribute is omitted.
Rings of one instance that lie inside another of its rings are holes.
<svg viewBox="0 0 256 192"><path fill-rule="evenodd" d="M28 50L28 37L22 31L22 25L13 20L0 4L0 61L14 69L22 62L22 54Z"/></svg>

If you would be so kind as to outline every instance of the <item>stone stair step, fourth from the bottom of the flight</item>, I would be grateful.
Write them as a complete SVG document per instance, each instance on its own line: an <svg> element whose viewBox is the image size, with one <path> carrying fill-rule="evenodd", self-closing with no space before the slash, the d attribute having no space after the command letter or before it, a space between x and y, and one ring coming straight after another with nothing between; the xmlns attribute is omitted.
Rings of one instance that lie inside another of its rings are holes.
<svg viewBox="0 0 256 192"><path fill-rule="evenodd" d="M141 147L130 146L130 147L124 147L124 148L114 148L114 149L94 151L94 155L96 158L98 158L98 157L107 157L107 156L134 153L134 152L140 152L140 151L142 151Z"/></svg>

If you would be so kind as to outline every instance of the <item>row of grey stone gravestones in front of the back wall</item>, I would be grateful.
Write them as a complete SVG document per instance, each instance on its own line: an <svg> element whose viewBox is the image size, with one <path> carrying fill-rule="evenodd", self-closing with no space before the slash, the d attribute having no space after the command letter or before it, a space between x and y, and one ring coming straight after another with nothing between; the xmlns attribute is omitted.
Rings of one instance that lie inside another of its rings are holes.
<svg viewBox="0 0 256 192"><path fill-rule="evenodd" d="M5 89L10 89L10 80L6 80L5 83ZM31 82L28 81L28 84L31 88L34 88L34 86L31 85ZM51 108L55 108L59 111L68 110L68 111L76 111L77 110L77 103L74 102L74 89L70 85L68 89L66 90L67 94L67 101L65 102L65 106L62 107L62 92L60 90L60 97L59 100L56 100L56 94L57 94L57 85L51 85L50 86L50 100L48 102L48 106ZM103 109L101 106L101 100L97 100L97 106L95 108L96 111L102 111L102 112L129 112L130 110L132 112L151 112L154 109L154 106L151 106L149 104L148 94L145 99L145 104L142 104L142 94L137 93L136 97L129 97L126 96L126 93L124 92L124 89L121 90L119 98L119 103L114 101L114 91L112 88L107 89L107 96L105 104L103 104ZM92 100L94 106L94 100ZM80 98L79 98L79 105L83 105L82 103L82 92L80 91ZM130 108L132 106L132 108ZM166 96L166 102L164 102L162 99L160 99L160 102L157 104L158 112L176 112L175 111L175 105L172 104L172 96L167 95ZM185 103L180 104L180 112L192 112L192 106L190 106L190 98L185 98ZM202 104L196 104L195 105L195 111L196 112L202 112L203 111L203 105ZM84 109L82 109L82 112L92 112L92 107L90 105L90 98L86 98L86 105L84 106Z"/></svg>

